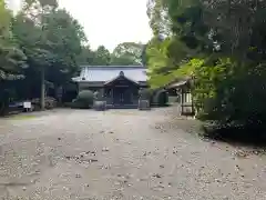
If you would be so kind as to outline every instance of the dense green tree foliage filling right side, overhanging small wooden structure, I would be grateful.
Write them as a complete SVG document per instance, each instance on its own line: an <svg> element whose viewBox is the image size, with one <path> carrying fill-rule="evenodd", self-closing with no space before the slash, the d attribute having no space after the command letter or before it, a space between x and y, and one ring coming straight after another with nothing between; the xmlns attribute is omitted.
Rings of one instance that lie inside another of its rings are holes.
<svg viewBox="0 0 266 200"><path fill-rule="evenodd" d="M198 116L223 124L263 124L265 6L257 0L150 0L152 86L192 77Z"/></svg>

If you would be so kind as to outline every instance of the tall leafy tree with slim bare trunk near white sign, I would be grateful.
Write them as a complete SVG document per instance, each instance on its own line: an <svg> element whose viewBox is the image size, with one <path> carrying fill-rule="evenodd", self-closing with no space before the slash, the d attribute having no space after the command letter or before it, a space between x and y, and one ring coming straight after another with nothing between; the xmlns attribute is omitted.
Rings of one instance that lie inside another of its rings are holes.
<svg viewBox="0 0 266 200"><path fill-rule="evenodd" d="M76 58L85 41L83 29L65 10L58 9L55 0L38 0L25 1L14 19L13 32L30 67L41 74L43 109L45 73L50 81L62 84L78 70Z"/></svg>

